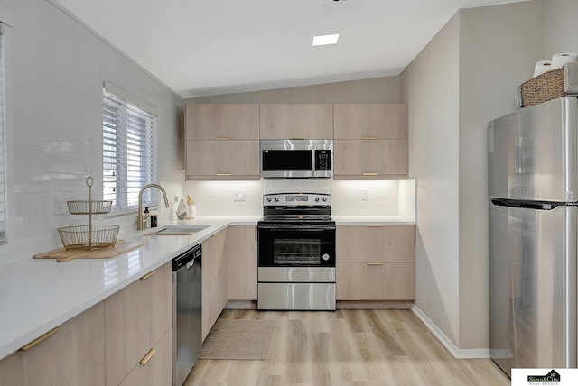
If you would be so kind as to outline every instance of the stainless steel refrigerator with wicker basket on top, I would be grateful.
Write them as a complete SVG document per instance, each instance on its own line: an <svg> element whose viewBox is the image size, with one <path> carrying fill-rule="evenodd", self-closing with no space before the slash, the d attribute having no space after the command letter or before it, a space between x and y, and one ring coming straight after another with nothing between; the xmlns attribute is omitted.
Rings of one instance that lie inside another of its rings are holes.
<svg viewBox="0 0 578 386"><path fill-rule="evenodd" d="M576 367L578 97L489 122L489 350Z"/></svg>

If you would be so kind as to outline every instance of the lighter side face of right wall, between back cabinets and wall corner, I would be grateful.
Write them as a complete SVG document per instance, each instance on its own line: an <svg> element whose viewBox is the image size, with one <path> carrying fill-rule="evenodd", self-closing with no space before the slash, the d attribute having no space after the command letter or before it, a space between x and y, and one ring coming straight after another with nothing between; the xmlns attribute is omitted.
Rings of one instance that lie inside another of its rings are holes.
<svg viewBox="0 0 578 386"><path fill-rule="evenodd" d="M404 70L409 170L417 179L415 304L452 341L459 334L459 43L455 15Z"/></svg>

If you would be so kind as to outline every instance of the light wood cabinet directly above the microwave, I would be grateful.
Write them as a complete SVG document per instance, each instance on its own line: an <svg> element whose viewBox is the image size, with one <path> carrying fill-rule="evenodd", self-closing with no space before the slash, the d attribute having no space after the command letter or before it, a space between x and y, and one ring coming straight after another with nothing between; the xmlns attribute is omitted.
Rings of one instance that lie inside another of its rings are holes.
<svg viewBox="0 0 578 386"><path fill-rule="evenodd" d="M333 105L260 106L261 139L331 139Z"/></svg>

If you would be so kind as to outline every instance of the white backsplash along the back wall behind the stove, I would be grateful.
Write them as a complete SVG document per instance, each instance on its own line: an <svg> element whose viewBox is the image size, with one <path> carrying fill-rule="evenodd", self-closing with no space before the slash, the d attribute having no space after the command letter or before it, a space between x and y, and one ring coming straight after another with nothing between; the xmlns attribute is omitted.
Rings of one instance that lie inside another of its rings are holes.
<svg viewBox="0 0 578 386"><path fill-rule="evenodd" d="M235 200L237 191L243 192L243 201ZM190 195L194 199L197 216L261 216L264 194L288 192L331 194L333 216L402 216L408 221L415 220L414 179L261 179L187 181L184 184L184 197Z"/></svg>

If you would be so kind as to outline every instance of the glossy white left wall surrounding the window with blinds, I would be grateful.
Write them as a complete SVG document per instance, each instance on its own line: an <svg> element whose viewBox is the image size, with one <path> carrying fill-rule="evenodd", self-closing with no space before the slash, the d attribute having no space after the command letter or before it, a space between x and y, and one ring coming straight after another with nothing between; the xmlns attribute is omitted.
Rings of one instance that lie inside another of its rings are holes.
<svg viewBox="0 0 578 386"><path fill-rule="evenodd" d="M71 216L70 199L102 198L104 80L160 110L159 175L182 191L182 98L47 0L0 0L9 29L8 131L14 159L10 218L14 249L0 264L61 247L56 229L88 223ZM3 15L0 15L3 17ZM135 229L135 216L95 222Z"/></svg>

